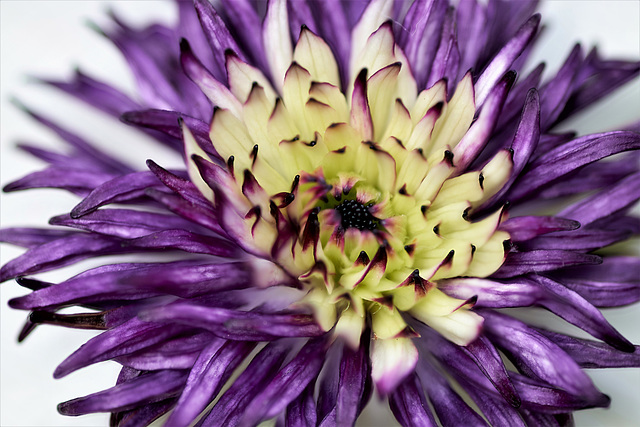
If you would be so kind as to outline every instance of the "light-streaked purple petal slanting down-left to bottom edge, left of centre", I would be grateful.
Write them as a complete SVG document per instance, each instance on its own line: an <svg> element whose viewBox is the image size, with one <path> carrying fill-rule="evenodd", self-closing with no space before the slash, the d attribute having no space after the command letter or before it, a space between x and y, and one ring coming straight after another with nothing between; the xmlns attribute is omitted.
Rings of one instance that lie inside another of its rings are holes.
<svg viewBox="0 0 640 427"><path fill-rule="evenodd" d="M221 340L222 341L222 340ZM204 410L233 371L255 347L255 343L214 342L196 360L167 425L189 425Z"/></svg>

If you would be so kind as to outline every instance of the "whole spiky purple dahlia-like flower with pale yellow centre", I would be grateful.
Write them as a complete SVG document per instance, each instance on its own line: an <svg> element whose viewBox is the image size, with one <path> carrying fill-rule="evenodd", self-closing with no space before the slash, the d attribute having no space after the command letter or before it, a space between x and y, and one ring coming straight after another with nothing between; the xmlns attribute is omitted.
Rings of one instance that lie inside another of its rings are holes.
<svg viewBox="0 0 640 427"><path fill-rule="evenodd" d="M639 63L576 46L550 78L519 76L534 2L178 6L175 27L102 30L138 99L81 72L45 83L184 168L136 170L25 107L70 152L22 145L49 166L5 191L81 200L55 227L0 231L27 248L0 270L33 291L9 302L30 312L20 340L102 330L54 376L122 365L62 414L352 425L375 391L402 425L567 425L609 405L582 368L640 365L599 311L640 299L640 260L601 251L640 230L640 129L555 129ZM34 276L128 254L157 259ZM501 310L530 306L595 339Z"/></svg>

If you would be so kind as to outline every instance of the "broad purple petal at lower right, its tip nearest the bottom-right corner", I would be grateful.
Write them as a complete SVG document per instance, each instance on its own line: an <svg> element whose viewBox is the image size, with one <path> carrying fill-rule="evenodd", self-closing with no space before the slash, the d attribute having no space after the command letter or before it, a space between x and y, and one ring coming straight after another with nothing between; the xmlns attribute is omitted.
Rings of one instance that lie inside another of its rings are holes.
<svg viewBox="0 0 640 427"><path fill-rule="evenodd" d="M604 398L573 359L544 335L506 315L492 311L481 314L491 340L520 372L580 396L585 401L598 402Z"/></svg>

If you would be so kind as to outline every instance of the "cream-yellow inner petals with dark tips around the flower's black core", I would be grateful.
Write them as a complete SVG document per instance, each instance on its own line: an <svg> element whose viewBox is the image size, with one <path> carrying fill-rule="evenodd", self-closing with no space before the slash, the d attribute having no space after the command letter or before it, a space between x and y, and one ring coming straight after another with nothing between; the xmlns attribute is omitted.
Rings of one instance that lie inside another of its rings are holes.
<svg viewBox="0 0 640 427"><path fill-rule="evenodd" d="M382 26L343 92L329 48L308 30L300 40L281 97L255 69L228 58L244 70L230 79L258 83L232 80L239 102L217 109L211 124L228 160L208 172L225 230L296 278L308 291L301 304L353 346L366 325L381 340L409 338L404 312L470 342L481 318L438 282L487 277L504 262L502 213L480 221L468 213L500 190L512 167L503 150L467 171L465 150L477 138L468 136L476 118L471 75L451 97L444 81L418 94ZM200 154L192 141L188 158ZM200 171L191 172L206 194Z"/></svg>

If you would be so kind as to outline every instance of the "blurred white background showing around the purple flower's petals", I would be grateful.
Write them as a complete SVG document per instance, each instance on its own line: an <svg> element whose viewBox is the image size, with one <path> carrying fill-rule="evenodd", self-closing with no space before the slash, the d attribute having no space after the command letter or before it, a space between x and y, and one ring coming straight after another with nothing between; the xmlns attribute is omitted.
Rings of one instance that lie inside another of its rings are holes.
<svg viewBox="0 0 640 427"><path fill-rule="evenodd" d="M171 153L151 144L141 134L117 124L115 119L87 109L52 89L30 82L27 74L66 78L73 66L93 76L115 82L133 93L133 81L123 60L111 44L84 23L92 20L106 24L105 11L112 7L133 22L150 18L171 21L173 5L157 1L8 1L1 0L1 175L2 185L41 167L41 163L17 151L17 141L60 147L52 134L34 124L10 103L11 97L46 112L77 130L105 150L126 158L139 169L144 160L153 157L164 165L178 165ZM534 59L547 61L547 70L555 70L576 41L590 47L598 44L601 53L629 59L640 58L640 3L630 1L551 1L542 8L547 30L534 52ZM627 85L605 102L590 108L568 127L581 133L621 127L640 118L640 81ZM68 212L76 198L61 191L30 190L2 195L3 227L44 225L53 215ZM637 242L637 241L636 241ZM17 256L18 249L2 246L2 263ZM96 262L85 262L86 268ZM72 269L45 275L45 279L61 280ZM93 334L43 326L24 343L15 341L25 313L7 308L7 300L25 290L13 282L0 286L1 292L1 407L2 426L89 426L106 425L106 415L80 418L62 417L56 405L77 396L110 387L118 367L112 362L86 368L62 380L53 380L52 372L68 354ZM628 307L606 310L608 319L627 338L640 342L640 309ZM525 314L539 322L533 311ZM564 327L555 319L545 324ZM575 328L566 331L579 334ZM609 410L579 413L578 425L632 426L640 419L640 372L634 370L590 371L600 389L610 395ZM372 402L374 403L374 402ZM370 405L361 425L392 425L388 410Z"/></svg>

